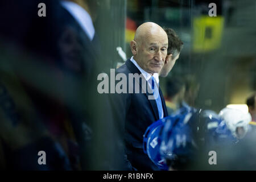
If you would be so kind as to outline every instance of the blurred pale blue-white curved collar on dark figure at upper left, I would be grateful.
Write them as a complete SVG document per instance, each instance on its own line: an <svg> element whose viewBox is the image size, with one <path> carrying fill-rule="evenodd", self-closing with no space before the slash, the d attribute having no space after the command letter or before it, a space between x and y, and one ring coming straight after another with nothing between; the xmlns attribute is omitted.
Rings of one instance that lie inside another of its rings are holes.
<svg viewBox="0 0 256 182"><path fill-rule="evenodd" d="M61 1L60 3L64 9L66 9L73 16L73 18L76 19L82 30L84 30L85 34L88 35L89 39L92 41L95 34L95 29L89 13L81 6L77 5L77 3L71 1Z"/></svg>

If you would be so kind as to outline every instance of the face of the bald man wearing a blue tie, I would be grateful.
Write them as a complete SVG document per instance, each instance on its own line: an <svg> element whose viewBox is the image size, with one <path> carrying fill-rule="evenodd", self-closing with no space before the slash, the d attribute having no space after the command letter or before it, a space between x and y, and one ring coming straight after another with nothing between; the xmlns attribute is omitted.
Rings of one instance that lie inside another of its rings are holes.
<svg viewBox="0 0 256 182"><path fill-rule="evenodd" d="M148 73L159 73L167 56L168 38L166 35L150 35L137 44L134 59Z"/></svg>

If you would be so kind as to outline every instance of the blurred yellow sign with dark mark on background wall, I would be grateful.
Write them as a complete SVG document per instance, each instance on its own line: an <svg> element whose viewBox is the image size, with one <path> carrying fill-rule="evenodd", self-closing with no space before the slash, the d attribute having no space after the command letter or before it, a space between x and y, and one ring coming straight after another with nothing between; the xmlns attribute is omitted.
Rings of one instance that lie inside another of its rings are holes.
<svg viewBox="0 0 256 182"><path fill-rule="evenodd" d="M193 51L205 52L219 48L223 27L222 16L200 16L193 19Z"/></svg>

